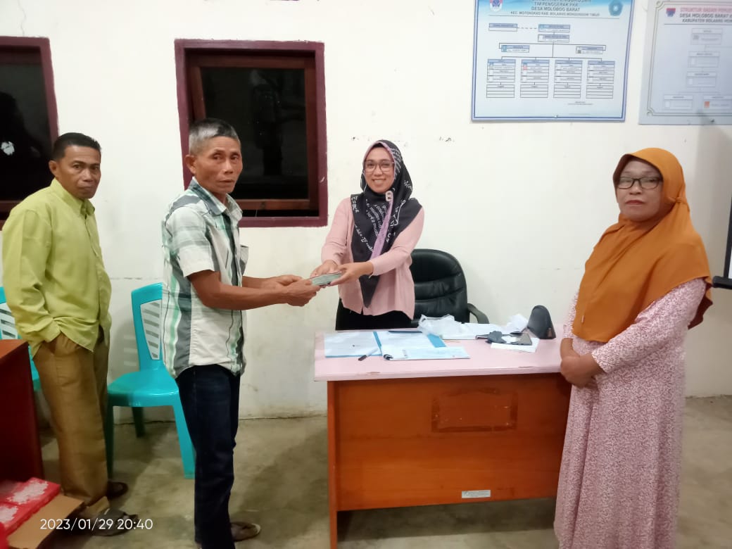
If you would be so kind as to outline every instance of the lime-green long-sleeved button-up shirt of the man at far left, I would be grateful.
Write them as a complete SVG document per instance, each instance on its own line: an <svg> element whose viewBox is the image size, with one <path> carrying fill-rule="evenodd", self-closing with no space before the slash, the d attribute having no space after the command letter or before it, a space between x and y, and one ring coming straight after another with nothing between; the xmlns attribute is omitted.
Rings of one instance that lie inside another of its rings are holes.
<svg viewBox="0 0 732 549"><path fill-rule="evenodd" d="M63 332L90 351L109 340L111 284L94 206L53 179L12 209L2 229L3 285L18 334L31 346Z"/></svg>

